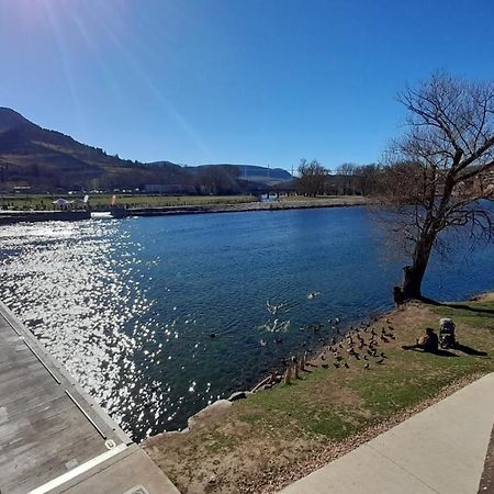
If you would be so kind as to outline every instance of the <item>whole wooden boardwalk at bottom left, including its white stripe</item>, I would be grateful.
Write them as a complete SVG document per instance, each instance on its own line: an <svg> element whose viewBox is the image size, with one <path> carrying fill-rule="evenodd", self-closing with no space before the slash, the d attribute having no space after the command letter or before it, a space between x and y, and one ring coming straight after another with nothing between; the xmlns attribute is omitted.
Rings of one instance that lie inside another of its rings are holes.
<svg viewBox="0 0 494 494"><path fill-rule="evenodd" d="M134 471L122 469L131 463ZM128 482L112 480L112 468ZM0 493L85 492L94 475L94 493L142 487L149 476L149 493L178 492L0 303Z"/></svg>

